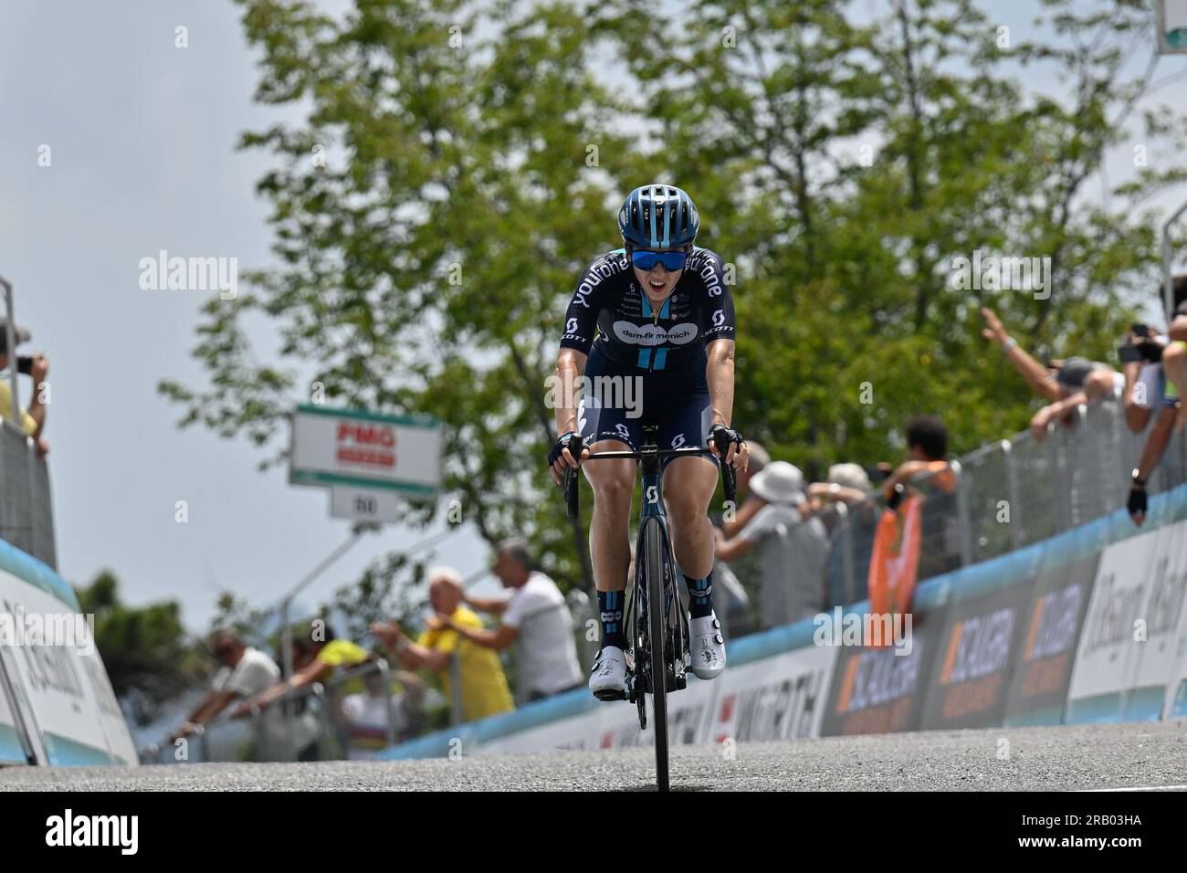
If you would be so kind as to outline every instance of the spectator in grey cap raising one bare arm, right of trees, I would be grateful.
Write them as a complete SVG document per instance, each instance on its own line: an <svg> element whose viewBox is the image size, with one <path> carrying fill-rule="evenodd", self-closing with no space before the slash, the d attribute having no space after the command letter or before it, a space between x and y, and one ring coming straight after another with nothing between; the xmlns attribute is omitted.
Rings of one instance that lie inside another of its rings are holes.
<svg viewBox="0 0 1187 873"><path fill-rule="evenodd" d="M1124 378L1112 367L1086 358L1052 361L1050 366L1045 367L1005 331L994 310L982 309L980 314L988 325L982 335L996 342L1032 390L1050 401L1030 419L1030 434L1035 439L1045 439L1047 425L1055 419L1062 419L1065 424L1073 423L1075 409L1081 404L1112 397L1124 387Z"/></svg>

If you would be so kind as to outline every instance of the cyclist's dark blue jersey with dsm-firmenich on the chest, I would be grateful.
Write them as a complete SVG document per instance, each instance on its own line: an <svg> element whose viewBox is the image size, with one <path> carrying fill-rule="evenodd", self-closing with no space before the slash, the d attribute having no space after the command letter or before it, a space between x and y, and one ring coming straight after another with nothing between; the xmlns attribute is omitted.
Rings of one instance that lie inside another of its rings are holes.
<svg viewBox="0 0 1187 873"><path fill-rule="evenodd" d="M734 301L722 259L693 247L675 289L656 312L635 280L624 248L607 252L582 273L565 312L561 348L647 371L675 368L713 340L734 339ZM594 329L597 328L595 339Z"/></svg>

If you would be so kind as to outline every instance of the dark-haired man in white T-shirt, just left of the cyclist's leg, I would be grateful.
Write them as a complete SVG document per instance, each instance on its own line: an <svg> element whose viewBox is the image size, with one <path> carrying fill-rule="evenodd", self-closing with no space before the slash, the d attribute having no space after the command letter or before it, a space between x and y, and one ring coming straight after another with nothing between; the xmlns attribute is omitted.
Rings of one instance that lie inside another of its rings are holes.
<svg viewBox="0 0 1187 873"><path fill-rule="evenodd" d="M510 596L463 595L463 601L484 613L501 615L499 627L493 631L466 627L450 618L442 618L440 625L475 645L496 652L516 643L516 700L521 703L584 687L585 677L577 662L569 603L556 582L532 569L532 552L527 543L522 539L500 543L490 569L510 590Z"/></svg>

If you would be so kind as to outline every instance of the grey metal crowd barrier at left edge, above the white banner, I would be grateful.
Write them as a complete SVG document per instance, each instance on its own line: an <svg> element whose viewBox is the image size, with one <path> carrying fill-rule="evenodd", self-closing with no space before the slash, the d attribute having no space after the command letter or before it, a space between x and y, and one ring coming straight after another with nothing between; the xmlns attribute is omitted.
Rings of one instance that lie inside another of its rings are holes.
<svg viewBox="0 0 1187 873"><path fill-rule="evenodd" d="M7 419L0 422L0 539L57 569L49 467Z"/></svg>

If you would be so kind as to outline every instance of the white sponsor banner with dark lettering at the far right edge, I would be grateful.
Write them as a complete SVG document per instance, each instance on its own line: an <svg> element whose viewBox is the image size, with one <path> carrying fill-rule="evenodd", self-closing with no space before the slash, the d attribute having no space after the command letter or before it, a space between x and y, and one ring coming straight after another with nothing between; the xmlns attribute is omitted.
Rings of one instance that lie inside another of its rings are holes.
<svg viewBox="0 0 1187 873"><path fill-rule="evenodd" d="M1185 533L1185 523L1178 523L1102 553L1067 692L1068 723L1157 717L1176 657L1182 613L1176 540ZM1144 689L1140 673L1149 683Z"/></svg>

